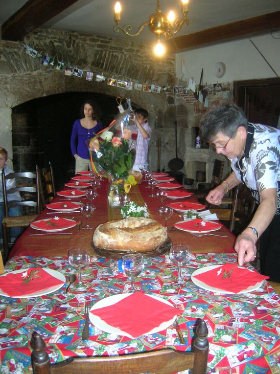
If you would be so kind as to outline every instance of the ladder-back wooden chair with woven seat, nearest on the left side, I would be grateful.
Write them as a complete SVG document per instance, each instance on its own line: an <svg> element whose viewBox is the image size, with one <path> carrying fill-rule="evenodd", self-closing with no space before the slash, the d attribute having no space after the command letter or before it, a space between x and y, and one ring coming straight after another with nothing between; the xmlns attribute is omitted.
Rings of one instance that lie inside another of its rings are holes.
<svg viewBox="0 0 280 374"><path fill-rule="evenodd" d="M16 187L7 190L7 180L15 179ZM40 213L40 186L39 186L39 171L36 167L36 172L21 172L10 173L5 176L2 171L2 189L5 217L2 220L2 235L3 235L3 260L7 261L9 255L9 246L12 245L10 238L10 228L12 227L27 227L32 221L36 220ZM11 193L19 192L22 201L14 201L9 203L8 196ZM14 206L21 206L23 209L22 216L10 217L9 208Z"/></svg>

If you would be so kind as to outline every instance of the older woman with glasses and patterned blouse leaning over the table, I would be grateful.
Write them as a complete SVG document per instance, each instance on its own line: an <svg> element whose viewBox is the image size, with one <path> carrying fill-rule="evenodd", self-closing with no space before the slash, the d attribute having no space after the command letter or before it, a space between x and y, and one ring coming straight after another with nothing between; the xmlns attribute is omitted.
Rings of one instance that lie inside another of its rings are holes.
<svg viewBox="0 0 280 374"><path fill-rule="evenodd" d="M236 238L238 263L256 258L260 239L261 273L280 282L280 130L248 123L240 108L221 102L200 121L204 141L231 160L233 172L210 191L207 201L219 205L239 183L250 188L258 203L254 217Z"/></svg>

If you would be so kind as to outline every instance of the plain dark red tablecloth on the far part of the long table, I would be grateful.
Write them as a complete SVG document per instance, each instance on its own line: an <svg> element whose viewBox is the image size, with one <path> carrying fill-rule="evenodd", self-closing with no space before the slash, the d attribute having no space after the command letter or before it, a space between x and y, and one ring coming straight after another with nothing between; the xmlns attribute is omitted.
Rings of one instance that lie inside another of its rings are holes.
<svg viewBox="0 0 280 374"><path fill-rule="evenodd" d="M187 200L197 202L197 200L193 196L187 199L183 198L178 200L165 199L163 202L161 202L158 198L149 198L149 195L151 194L151 189L146 187L146 182L143 182L137 186L133 186L130 190L129 198L131 198L133 201L137 202L140 205L146 203L148 206L148 211L150 213L150 218L159 221L163 225L164 220L160 217L158 213L158 207L160 205L167 204L171 201L184 202ZM64 188L64 190L65 189L67 188ZM184 188L182 188L182 191L183 190ZM18 240L15 242L9 257L11 258L14 255L66 256L70 248L78 247L85 247L93 253L91 242L94 229L100 223L104 223L108 220L120 219L120 209L110 208L108 206L107 191L108 181L107 179L103 179L103 181L101 182L101 188L97 189L99 196L93 201L93 205L95 205L96 209L94 210L93 216L89 219L90 224L93 226L93 230L80 229L78 231L78 226L75 226L74 228L67 230L67 233L72 233L72 235L58 235L59 233L57 233L56 235L52 234L44 236L30 236L31 234L38 234L38 231L28 227L20 236L20 238L18 238ZM67 202L70 200L63 199L59 196L56 196L52 200L52 202L58 201ZM88 199L86 197L83 197L75 199L75 201L88 202ZM55 213L52 212L54 214L50 214L50 212L51 211L49 209L44 209L37 217L37 220L54 217ZM60 213L58 214L58 216L64 218L74 217L73 219L76 221L85 222L85 218L81 215L80 212L69 212L63 214ZM168 227L171 228L175 222L178 222L180 220L183 220L182 215L180 217L180 214L174 211L173 216L167 221ZM228 237L220 238L213 236L205 236L197 238L184 231L177 230L173 232L168 232L168 236L173 244L185 243L190 246L191 251L193 253L234 252L234 235L225 226L223 226L219 230L219 234L228 235Z"/></svg>

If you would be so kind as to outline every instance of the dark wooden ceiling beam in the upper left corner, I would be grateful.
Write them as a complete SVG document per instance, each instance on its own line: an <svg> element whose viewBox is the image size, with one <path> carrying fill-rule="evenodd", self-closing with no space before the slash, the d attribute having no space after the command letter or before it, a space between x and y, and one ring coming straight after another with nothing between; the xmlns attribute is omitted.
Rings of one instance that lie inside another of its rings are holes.
<svg viewBox="0 0 280 374"><path fill-rule="evenodd" d="M1 26L2 40L19 41L77 0L28 0Z"/></svg>

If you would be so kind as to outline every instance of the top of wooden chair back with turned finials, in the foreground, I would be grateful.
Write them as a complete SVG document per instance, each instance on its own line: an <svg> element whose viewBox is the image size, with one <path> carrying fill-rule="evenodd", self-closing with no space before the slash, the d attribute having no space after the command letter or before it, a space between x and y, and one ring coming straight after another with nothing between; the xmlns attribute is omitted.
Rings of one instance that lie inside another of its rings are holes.
<svg viewBox="0 0 280 374"><path fill-rule="evenodd" d="M193 352L163 349L113 357L70 357L66 361L50 365L46 343L34 331L30 343L33 348L33 374L171 374L187 369L192 369L192 374L205 374L209 351L207 334L206 323L201 320L196 330Z"/></svg>

